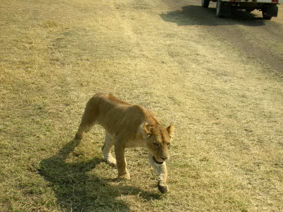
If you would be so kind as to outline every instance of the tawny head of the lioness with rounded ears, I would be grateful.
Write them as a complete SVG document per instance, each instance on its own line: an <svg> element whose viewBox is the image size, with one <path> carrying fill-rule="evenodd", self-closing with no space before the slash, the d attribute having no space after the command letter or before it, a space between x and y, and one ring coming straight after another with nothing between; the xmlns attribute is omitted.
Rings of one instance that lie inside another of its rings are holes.
<svg viewBox="0 0 283 212"><path fill-rule="evenodd" d="M146 140L146 149L152 154L154 161L162 163L169 159L174 126L171 124L165 128L160 124L152 126L144 122L141 127L143 138Z"/></svg>

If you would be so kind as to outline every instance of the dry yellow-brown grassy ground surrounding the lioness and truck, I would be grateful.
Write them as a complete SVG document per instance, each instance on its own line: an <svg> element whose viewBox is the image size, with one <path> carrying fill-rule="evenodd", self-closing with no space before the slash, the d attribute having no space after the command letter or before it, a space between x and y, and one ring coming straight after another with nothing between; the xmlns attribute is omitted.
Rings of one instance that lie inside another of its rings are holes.
<svg viewBox="0 0 283 212"><path fill-rule="evenodd" d="M0 1L1 212L282 212L283 6L216 18L200 0ZM97 92L175 124L170 191L143 149L130 181L104 130L75 146Z"/></svg>

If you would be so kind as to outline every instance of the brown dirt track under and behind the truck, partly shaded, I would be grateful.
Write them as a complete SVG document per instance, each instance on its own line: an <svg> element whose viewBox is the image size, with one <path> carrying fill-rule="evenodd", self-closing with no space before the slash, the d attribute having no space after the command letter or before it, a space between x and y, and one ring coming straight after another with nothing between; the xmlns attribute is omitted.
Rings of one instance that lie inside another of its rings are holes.
<svg viewBox="0 0 283 212"><path fill-rule="evenodd" d="M200 26L207 42L216 39L231 44L259 64L266 63L276 70L283 69L283 7L272 21L264 21L258 10L252 13L234 11L231 17L216 18L216 3L210 2L207 9L198 1L167 1L171 11L161 17L179 26ZM180 9L182 8L182 9ZM225 48L225 47L223 47ZM221 51L217 49L216 51Z"/></svg>

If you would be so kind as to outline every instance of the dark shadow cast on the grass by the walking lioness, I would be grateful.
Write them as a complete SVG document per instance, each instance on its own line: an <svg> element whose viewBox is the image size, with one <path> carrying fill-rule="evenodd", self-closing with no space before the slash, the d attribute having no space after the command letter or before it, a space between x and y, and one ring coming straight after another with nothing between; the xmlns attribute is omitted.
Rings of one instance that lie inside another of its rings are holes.
<svg viewBox="0 0 283 212"><path fill-rule="evenodd" d="M40 162L39 172L55 192L57 204L66 211L130 211L129 206L118 197L139 195L144 200L160 199L158 193L150 193L134 186L119 183L115 188L113 179L101 179L88 172L101 162L94 158L80 162L66 162L69 154L78 145L76 140L68 142L53 157ZM103 201L101 201L101 199ZM107 200L107 201L105 201ZM107 204L105 204L107 203Z"/></svg>

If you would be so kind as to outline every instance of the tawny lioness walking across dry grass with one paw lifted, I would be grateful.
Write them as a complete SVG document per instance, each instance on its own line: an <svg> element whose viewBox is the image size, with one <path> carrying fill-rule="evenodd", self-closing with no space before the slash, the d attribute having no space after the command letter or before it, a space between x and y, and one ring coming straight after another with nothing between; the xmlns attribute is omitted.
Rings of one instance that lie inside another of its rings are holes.
<svg viewBox="0 0 283 212"><path fill-rule="evenodd" d="M104 159L118 169L118 177L130 179L125 159L125 148L144 147L148 150L148 159L158 173L158 189L168 191L166 184L167 168L165 160L169 158L169 149L174 126L164 128L151 111L140 105L131 105L119 100L112 94L94 95L85 108L76 139L82 140L94 124L106 131L102 147ZM114 159L110 153L114 146Z"/></svg>

